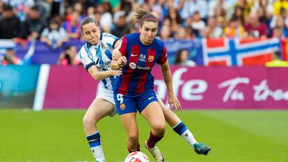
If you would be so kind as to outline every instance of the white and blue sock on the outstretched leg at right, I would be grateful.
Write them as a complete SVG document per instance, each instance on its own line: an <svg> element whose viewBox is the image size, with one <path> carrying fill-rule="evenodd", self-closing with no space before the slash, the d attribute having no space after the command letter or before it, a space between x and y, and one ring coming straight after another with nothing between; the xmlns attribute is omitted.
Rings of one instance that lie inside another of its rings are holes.
<svg viewBox="0 0 288 162"><path fill-rule="evenodd" d="M182 136L184 138L184 140L186 140L187 143L189 143L189 145L191 145L191 147L193 147L193 145L195 143L198 143L193 134L191 133L191 131L189 131L189 129L186 127L186 125L181 121L178 124L176 124L173 127L173 130L178 133L180 136ZM194 147L193 147L194 148Z"/></svg>

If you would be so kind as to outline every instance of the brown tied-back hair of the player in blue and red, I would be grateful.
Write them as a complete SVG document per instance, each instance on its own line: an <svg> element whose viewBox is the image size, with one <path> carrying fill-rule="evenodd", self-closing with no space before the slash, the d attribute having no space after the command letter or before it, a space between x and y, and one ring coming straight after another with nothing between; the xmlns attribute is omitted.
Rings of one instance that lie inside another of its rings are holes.
<svg viewBox="0 0 288 162"><path fill-rule="evenodd" d="M142 27L143 22L159 22L159 19L153 15L152 13L149 13L147 10L142 10L140 8L136 8L136 19L138 20L140 26Z"/></svg>

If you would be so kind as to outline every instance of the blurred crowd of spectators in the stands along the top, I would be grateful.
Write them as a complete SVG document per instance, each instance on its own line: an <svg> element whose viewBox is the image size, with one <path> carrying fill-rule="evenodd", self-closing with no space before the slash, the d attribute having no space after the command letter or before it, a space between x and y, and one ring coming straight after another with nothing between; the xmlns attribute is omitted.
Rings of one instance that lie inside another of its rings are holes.
<svg viewBox="0 0 288 162"><path fill-rule="evenodd" d="M288 0L0 0L0 39L38 39L57 49L81 39L84 17L121 38L138 30L137 7L159 17L162 40L288 37Z"/></svg>

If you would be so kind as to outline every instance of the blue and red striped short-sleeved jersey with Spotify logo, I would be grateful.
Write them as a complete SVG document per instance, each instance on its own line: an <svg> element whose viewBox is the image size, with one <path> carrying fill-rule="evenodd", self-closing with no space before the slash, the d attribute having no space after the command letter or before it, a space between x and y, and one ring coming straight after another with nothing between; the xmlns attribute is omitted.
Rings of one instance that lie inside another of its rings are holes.
<svg viewBox="0 0 288 162"><path fill-rule="evenodd" d="M122 67L122 75L115 80L114 93L138 95L145 90L153 90L154 77L151 74L155 63L167 61L166 47L155 38L150 45L142 44L139 33L126 35L119 49L126 56L127 65Z"/></svg>

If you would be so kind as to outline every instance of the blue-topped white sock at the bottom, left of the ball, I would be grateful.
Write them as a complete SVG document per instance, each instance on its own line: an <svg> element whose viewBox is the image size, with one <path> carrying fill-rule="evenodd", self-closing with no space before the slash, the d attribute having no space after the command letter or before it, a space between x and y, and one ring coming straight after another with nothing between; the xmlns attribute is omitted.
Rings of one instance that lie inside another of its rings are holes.
<svg viewBox="0 0 288 162"><path fill-rule="evenodd" d="M99 131L96 131L95 133L86 136L86 138L95 159L97 161L105 161Z"/></svg>

